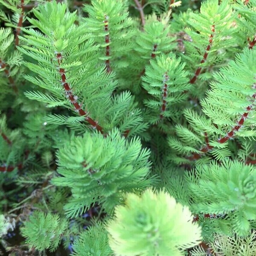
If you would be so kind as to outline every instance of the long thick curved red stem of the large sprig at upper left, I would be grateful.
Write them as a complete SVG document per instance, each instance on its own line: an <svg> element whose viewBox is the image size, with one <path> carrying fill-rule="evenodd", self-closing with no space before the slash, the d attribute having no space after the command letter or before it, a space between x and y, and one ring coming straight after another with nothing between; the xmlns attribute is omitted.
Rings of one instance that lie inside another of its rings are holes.
<svg viewBox="0 0 256 256"><path fill-rule="evenodd" d="M60 67L61 61L62 61L62 55L60 52L56 54L57 60L58 60L58 68L59 73L61 75L61 84L64 87L66 97L70 100L70 103L75 107L75 111L78 112L81 116L85 116L85 120L97 131L99 131L101 134L104 134L102 127L98 124L98 122L94 121L90 116L88 116L88 113L82 109L82 106L77 102L78 96L74 95L72 93L72 89L70 88L69 84L67 83L66 79L66 72L63 68Z"/></svg>

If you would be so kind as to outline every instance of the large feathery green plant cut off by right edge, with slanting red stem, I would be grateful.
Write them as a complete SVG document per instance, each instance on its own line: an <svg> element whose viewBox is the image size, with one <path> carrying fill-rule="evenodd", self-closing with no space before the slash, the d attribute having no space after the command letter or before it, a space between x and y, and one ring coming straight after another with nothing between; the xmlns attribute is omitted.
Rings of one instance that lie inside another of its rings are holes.
<svg viewBox="0 0 256 256"><path fill-rule="evenodd" d="M221 67L220 72L213 75L215 81L210 84L211 90L208 90L207 96L201 101L202 111L207 117L185 109L184 116L189 127L176 125L180 141L169 137L169 145L175 151L195 156L203 154L202 150L206 149L216 160L223 160L231 155L228 140L234 137L255 137L255 116L252 111L256 82L253 65L255 57L254 49L244 49L227 67ZM205 133L211 138L208 145ZM206 158L205 163L208 160Z"/></svg>

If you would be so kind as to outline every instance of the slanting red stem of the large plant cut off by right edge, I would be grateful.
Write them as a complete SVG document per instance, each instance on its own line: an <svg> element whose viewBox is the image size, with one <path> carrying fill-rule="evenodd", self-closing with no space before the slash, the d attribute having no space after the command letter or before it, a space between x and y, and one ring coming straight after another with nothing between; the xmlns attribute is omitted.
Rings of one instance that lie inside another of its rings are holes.
<svg viewBox="0 0 256 256"><path fill-rule="evenodd" d="M253 84L253 89L256 89L256 84ZM256 98L256 93L253 94L252 98L254 101ZM230 132L227 133L225 137L221 137L220 139L218 139L218 143L223 144L228 140L232 139L235 136L236 132L239 131L239 129L242 127L242 125L244 124L244 120L247 118L248 114L252 109L253 109L253 104L247 106L246 111L241 115L241 118L236 121L236 125L232 128ZM207 141L208 141L208 138L206 139L206 142ZM214 147L209 145L209 141L208 141L207 145L204 148L201 148L200 151L202 153L207 153L212 148ZM201 154L193 153L192 159L197 160L200 157L201 157Z"/></svg>

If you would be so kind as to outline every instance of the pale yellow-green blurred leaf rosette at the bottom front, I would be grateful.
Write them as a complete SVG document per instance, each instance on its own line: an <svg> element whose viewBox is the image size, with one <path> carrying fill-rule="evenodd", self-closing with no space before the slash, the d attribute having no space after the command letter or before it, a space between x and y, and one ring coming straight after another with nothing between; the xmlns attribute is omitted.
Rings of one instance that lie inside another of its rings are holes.
<svg viewBox="0 0 256 256"><path fill-rule="evenodd" d="M201 228L192 224L188 207L164 191L147 189L129 194L109 221L110 246L117 255L183 255L201 239Z"/></svg>

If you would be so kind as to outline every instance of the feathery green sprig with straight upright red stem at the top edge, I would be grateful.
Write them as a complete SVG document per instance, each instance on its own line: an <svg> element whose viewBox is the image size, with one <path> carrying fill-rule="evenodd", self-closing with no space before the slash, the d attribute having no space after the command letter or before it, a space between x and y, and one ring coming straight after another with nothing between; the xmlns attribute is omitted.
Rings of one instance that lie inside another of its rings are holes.
<svg viewBox="0 0 256 256"><path fill-rule="evenodd" d="M105 61L109 71L127 67L122 57L134 47L135 32L130 28L133 21L128 17L127 1L93 0L83 10L89 16L84 19L88 32L100 46L99 59Z"/></svg>

